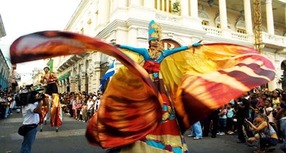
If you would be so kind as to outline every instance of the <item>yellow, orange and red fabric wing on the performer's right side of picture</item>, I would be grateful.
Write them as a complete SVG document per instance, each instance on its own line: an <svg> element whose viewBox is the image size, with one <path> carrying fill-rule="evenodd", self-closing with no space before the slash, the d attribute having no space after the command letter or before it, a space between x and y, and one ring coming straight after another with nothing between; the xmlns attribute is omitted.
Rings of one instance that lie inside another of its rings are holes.
<svg viewBox="0 0 286 153"><path fill-rule="evenodd" d="M161 69L182 133L214 109L275 77L273 63L254 48L226 43L173 54Z"/></svg>

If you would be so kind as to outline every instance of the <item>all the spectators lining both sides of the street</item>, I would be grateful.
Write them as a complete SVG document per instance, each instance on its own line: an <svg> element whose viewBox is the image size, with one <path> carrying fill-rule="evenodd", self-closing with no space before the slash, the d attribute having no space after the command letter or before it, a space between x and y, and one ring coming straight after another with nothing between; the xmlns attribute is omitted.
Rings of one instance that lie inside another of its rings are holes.
<svg viewBox="0 0 286 153"><path fill-rule="evenodd" d="M59 97L63 113L77 121L88 123L100 107L103 92L100 90L89 94L64 92L59 94ZM208 137L209 133L212 138L237 133L237 143L260 146L255 153L264 153L271 150L271 146L283 142L284 146L281 149L286 152L286 125L281 125L286 123L284 122L286 121L285 103L285 91L255 88L222 108L214 110L204 120L195 123L190 128L192 132L188 137L200 140ZM13 95L0 91L0 120L12 115L11 110L15 108ZM268 135L267 139L263 134Z"/></svg>

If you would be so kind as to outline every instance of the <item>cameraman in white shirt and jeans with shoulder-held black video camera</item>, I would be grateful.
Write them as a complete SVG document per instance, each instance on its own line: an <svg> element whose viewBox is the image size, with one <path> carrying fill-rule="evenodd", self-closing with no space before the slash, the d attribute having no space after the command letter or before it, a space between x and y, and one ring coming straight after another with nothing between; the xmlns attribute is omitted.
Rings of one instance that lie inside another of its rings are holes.
<svg viewBox="0 0 286 153"><path fill-rule="evenodd" d="M30 153L37 133L41 107L47 105L43 94L37 93L34 95L31 93L29 92L26 97L25 95L18 95L16 98L17 105L22 106L23 114L23 125L18 130L18 134L24 137L20 153Z"/></svg>

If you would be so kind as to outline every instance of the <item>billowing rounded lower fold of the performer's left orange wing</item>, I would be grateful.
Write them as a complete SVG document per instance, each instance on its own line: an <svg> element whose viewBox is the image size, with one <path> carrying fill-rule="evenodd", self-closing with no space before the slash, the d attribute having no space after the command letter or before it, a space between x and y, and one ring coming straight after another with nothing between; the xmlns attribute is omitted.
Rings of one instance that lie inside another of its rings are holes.
<svg viewBox="0 0 286 153"><path fill-rule="evenodd" d="M121 67L112 76L87 127L86 137L102 148L135 143L158 126L161 109L158 97L150 88L126 67Z"/></svg>

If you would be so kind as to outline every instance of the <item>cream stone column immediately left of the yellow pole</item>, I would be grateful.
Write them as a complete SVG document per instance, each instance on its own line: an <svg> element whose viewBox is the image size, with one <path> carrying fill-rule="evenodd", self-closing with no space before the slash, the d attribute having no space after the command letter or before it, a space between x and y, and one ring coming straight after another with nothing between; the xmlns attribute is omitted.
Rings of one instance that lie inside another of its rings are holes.
<svg viewBox="0 0 286 153"><path fill-rule="evenodd" d="M244 17L245 17L246 33L253 34L250 0L244 0L244 14L245 14Z"/></svg>

